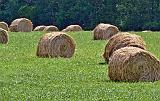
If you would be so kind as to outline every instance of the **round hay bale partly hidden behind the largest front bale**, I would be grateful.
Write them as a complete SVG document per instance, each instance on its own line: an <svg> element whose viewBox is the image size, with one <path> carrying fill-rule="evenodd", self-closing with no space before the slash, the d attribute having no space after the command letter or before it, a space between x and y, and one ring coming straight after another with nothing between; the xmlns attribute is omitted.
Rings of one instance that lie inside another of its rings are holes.
<svg viewBox="0 0 160 101"><path fill-rule="evenodd" d="M109 57L112 55L114 51L129 46L138 47L146 50L146 44L141 36L129 33L118 33L109 39L105 47L103 57L108 63Z"/></svg>

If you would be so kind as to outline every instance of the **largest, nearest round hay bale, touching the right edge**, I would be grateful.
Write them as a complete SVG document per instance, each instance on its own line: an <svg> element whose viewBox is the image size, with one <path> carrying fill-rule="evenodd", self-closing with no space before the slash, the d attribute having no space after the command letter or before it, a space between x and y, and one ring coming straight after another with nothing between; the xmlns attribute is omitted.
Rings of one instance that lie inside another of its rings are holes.
<svg viewBox="0 0 160 101"><path fill-rule="evenodd" d="M108 75L113 81L157 81L160 80L160 62L148 51L124 47L110 57Z"/></svg>

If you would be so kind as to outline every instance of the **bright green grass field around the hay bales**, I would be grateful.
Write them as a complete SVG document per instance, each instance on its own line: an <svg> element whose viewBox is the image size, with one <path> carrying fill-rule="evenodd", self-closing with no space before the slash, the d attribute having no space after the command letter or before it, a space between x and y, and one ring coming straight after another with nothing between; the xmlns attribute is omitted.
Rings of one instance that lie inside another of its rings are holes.
<svg viewBox="0 0 160 101"><path fill-rule="evenodd" d="M135 32L160 59L160 32ZM9 33L0 45L0 101L160 101L160 82L112 82L102 58L106 41L91 32L68 33L77 43L71 59L38 58L43 32Z"/></svg>

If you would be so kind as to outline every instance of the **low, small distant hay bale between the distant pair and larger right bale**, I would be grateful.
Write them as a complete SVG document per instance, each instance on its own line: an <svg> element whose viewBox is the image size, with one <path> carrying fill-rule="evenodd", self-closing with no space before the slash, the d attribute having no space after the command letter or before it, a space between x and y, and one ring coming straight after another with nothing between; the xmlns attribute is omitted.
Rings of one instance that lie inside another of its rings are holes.
<svg viewBox="0 0 160 101"><path fill-rule="evenodd" d="M62 32L77 32L77 31L83 31L82 27L79 25L70 25L62 30Z"/></svg>

